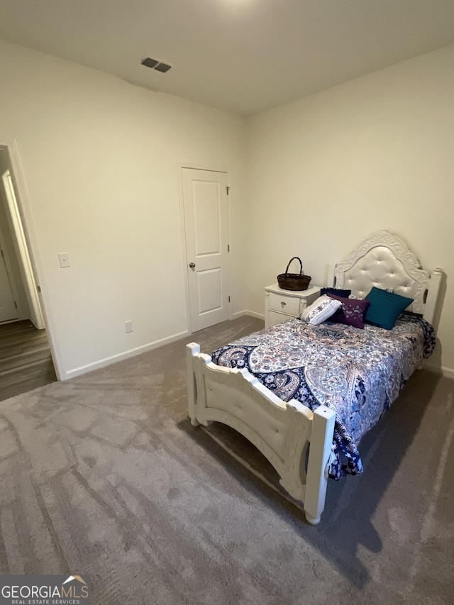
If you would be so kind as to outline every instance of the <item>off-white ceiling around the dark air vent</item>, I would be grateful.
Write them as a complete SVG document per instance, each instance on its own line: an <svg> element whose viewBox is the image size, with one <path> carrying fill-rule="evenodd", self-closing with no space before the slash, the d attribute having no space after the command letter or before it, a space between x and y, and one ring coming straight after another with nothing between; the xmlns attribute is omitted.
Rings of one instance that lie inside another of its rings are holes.
<svg viewBox="0 0 454 605"><path fill-rule="evenodd" d="M454 0L0 0L0 38L250 115L454 43Z"/></svg>

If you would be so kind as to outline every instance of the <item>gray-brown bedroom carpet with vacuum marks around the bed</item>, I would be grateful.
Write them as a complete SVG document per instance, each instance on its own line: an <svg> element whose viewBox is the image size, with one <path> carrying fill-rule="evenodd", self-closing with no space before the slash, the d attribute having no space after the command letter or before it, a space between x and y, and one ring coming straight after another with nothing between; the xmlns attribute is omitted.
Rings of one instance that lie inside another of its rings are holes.
<svg viewBox="0 0 454 605"><path fill-rule="evenodd" d="M255 448L186 417L185 343L261 327L2 401L1 573L90 575L96 605L452 604L454 381L411 377L310 526Z"/></svg>

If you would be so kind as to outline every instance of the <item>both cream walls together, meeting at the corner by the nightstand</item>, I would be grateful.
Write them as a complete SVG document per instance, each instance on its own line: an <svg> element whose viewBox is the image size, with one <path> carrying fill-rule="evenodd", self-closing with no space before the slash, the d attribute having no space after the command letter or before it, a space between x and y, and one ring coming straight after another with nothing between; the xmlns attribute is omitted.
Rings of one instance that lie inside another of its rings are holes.
<svg viewBox="0 0 454 605"><path fill-rule="evenodd" d="M9 43L0 56L0 143L16 141L63 378L187 333L182 162L231 174L233 313L263 313L290 257L321 283L387 228L448 275L431 363L454 375L454 46L247 121Z"/></svg>

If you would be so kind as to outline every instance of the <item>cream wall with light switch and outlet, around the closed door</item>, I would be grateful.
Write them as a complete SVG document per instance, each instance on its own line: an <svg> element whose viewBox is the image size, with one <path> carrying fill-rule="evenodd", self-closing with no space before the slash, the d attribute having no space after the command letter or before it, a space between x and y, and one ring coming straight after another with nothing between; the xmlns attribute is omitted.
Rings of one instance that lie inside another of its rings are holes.
<svg viewBox="0 0 454 605"><path fill-rule="evenodd" d="M229 171L238 274L243 118L9 43L0 57L0 143L16 141L62 377L187 333L179 162Z"/></svg>

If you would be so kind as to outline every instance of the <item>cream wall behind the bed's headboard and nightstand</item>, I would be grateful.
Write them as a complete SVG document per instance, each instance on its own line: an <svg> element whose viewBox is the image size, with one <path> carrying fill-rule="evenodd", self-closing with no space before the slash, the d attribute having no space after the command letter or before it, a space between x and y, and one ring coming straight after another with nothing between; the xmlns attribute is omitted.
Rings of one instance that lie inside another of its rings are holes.
<svg viewBox="0 0 454 605"><path fill-rule="evenodd" d="M431 364L454 377L454 46L248 121L248 308L300 256L313 283L369 233L400 235L447 290Z"/></svg>

